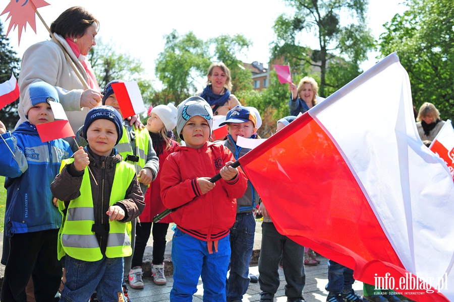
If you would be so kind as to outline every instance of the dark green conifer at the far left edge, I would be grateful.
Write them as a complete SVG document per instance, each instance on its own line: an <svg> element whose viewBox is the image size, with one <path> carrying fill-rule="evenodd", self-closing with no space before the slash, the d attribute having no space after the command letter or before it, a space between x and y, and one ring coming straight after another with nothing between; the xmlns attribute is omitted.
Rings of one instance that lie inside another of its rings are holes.
<svg viewBox="0 0 454 302"><path fill-rule="evenodd" d="M16 55L17 52L11 48L9 38L3 33L3 24L0 23L0 83L10 80L11 73L18 78L20 59ZM0 120L7 129L13 130L19 120L18 104L19 99L0 110Z"/></svg>

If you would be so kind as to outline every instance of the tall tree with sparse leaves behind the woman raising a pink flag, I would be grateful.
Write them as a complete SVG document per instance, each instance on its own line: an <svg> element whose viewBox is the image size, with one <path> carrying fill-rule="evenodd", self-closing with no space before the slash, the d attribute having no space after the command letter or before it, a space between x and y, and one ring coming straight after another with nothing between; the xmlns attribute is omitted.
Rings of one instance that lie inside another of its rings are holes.
<svg viewBox="0 0 454 302"><path fill-rule="evenodd" d="M374 38L365 25L367 0L285 0L293 16L279 16L273 26L276 40L272 58L285 58L292 68L307 64L320 74L319 95L325 97L361 73L359 65L374 47ZM341 16L350 22L341 25ZM345 17L344 17L345 16ZM304 32L314 33L319 49L310 50ZM342 72L331 65L347 68ZM352 74L353 72L353 74ZM341 77L341 79L339 79ZM339 82L339 80L341 80Z"/></svg>

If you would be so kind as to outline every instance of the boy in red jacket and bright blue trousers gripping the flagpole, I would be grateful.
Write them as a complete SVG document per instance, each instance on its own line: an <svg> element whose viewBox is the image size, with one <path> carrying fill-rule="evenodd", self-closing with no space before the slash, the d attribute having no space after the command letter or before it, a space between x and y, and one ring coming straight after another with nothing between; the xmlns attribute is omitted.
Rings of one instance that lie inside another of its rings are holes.
<svg viewBox="0 0 454 302"><path fill-rule="evenodd" d="M172 240L174 285L171 301L192 301L202 276L203 300L225 301L225 276L231 249L229 232L235 222L237 202L247 178L229 167L234 157L223 145L207 142L213 113L200 97L178 106L177 134L184 139L165 159L161 171L161 197L176 223ZM209 179L220 174L217 183Z"/></svg>

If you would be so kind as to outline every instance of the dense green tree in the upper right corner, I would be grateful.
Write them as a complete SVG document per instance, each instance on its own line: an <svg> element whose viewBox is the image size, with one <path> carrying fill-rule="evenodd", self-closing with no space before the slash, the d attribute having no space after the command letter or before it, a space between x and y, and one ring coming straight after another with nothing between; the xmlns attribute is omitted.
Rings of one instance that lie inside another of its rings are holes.
<svg viewBox="0 0 454 302"><path fill-rule="evenodd" d="M397 51L407 70L413 104L433 103L442 119L454 119L454 2L408 0L409 9L384 24L380 52Z"/></svg>

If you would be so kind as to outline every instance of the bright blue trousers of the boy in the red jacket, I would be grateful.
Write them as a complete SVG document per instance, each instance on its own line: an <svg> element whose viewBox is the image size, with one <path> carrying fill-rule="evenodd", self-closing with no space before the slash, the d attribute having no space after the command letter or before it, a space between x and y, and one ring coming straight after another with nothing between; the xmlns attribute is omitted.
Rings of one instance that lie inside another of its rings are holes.
<svg viewBox="0 0 454 302"><path fill-rule="evenodd" d="M219 240L218 252L208 253L206 241L175 229L172 239L174 285L172 302L192 302L199 277L203 282L203 301L225 301L225 276L230 261L230 236Z"/></svg>

